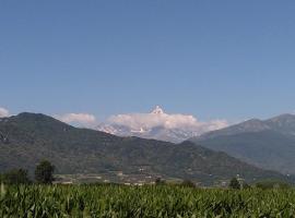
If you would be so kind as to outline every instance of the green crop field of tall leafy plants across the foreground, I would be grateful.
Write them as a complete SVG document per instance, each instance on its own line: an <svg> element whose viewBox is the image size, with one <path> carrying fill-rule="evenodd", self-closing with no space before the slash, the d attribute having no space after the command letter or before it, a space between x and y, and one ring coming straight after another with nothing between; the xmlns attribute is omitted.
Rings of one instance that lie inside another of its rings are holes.
<svg viewBox="0 0 295 218"><path fill-rule="evenodd" d="M169 185L1 186L0 217L295 217L295 191Z"/></svg>

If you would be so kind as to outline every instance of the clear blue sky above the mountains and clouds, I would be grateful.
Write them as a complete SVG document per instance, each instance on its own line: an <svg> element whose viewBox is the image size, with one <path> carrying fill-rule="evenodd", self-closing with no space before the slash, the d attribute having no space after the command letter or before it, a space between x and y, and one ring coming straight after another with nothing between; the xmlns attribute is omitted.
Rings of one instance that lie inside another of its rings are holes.
<svg viewBox="0 0 295 218"><path fill-rule="evenodd" d="M0 0L0 107L293 112L294 12L293 0Z"/></svg>

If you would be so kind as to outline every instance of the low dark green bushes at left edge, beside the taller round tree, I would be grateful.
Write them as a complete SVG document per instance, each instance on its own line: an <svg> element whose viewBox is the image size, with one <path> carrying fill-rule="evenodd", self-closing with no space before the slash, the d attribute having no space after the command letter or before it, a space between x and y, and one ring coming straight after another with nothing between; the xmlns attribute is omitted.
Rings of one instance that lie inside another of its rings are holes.
<svg viewBox="0 0 295 218"><path fill-rule="evenodd" d="M13 169L3 174L0 174L0 182L4 184L30 184L31 180L27 174L27 170Z"/></svg>

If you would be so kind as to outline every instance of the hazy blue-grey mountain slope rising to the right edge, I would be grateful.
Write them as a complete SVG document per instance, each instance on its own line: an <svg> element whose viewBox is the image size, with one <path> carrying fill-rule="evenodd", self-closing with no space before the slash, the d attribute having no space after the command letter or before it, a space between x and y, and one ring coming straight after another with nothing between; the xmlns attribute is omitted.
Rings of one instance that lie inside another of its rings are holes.
<svg viewBox="0 0 295 218"><path fill-rule="evenodd" d="M295 174L295 116L252 119L190 140L257 167Z"/></svg>

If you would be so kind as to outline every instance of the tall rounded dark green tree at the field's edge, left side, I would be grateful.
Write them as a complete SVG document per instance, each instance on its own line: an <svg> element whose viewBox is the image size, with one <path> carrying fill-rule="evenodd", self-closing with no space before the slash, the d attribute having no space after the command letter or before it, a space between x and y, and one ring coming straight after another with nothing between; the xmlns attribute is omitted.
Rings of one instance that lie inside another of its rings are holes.
<svg viewBox="0 0 295 218"><path fill-rule="evenodd" d="M35 169L35 180L39 184L52 184L55 166L48 160L40 161Z"/></svg>

